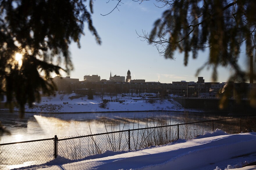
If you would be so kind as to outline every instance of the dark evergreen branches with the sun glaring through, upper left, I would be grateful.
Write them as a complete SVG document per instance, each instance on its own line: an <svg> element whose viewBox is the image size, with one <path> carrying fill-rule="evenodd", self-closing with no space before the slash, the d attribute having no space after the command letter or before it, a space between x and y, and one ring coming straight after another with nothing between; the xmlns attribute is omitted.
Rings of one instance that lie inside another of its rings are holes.
<svg viewBox="0 0 256 170"><path fill-rule="evenodd" d="M15 98L23 115L26 103L40 101L39 91L54 94L56 86L48 78L53 72L60 75L60 70L73 69L69 45L74 41L80 47L85 22L101 43L92 12L93 0L0 1L0 93L7 96L10 109ZM54 64L54 59L65 67Z"/></svg>

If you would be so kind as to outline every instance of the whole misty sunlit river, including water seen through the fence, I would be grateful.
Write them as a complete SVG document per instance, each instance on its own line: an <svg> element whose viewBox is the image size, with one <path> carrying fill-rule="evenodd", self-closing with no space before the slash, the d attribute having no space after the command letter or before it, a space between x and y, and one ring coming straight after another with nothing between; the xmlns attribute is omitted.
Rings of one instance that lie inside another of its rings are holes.
<svg viewBox="0 0 256 170"><path fill-rule="evenodd" d="M119 131L137 129L147 126L174 125L177 123L198 122L202 120L214 120L228 118L227 115L219 114L195 114L182 112L113 112L113 113L80 113L80 114L25 114L24 119L19 114L8 112L0 113L0 121L11 132L11 135L1 136L1 143L19 142L37 139L58 138L68 136L79 136L88 134L104 133L106 131ZM168 128L170 130L170 128ZM150 130L149 130L150 131ZM136 137L136 133L140 138ZM161 133L161 132L160 132ZM170 131L171 133L171 131ZM182 134L182 132L180 132ZM132 131L131 149L138 149L141 143L141 132ZM153 133L149 133L153 134ZM119 133L113 134L117 140L110 143L119 143ZM110 137L113 140L113 135ZM120 146L128 150L127 132L121 134ZM135 135L135 136L134 136ZM144 136L145 137L145 136ZM100 135L74 140L58 141L58 155L68 159L79 159L85 156L99 153L98 149L111 150L108 146L107 136ZM156 138L157 139L157 138ZM143 140L144 141L144 140ZM138 146L138 148L136 147ZM103 148L102 148L103 147ZM121 149L122 149L121 147ZM81 151L81 152L80 152ZM42 164L53 160L54 141L44 140L38 142L26 142L0 147L0 169L7 170L25 167L34 164ZM101 152L100 152L101 153ZM77 157L78 156L78 157Z"/></svg>

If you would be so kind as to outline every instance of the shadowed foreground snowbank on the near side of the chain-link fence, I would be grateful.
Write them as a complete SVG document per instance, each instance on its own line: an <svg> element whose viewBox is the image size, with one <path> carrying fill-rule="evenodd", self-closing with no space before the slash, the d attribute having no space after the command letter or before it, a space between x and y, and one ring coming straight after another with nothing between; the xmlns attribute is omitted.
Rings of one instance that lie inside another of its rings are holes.
<svg viewBox="0 0 256 170"><path fill-rule="evenodd" d="M192 140L177 140L163 146L137 151L106 151L82 160L57 157L46 164L19 169L233 169L256 160L255 142L255 132L228 135L216 129Z"/></svg>

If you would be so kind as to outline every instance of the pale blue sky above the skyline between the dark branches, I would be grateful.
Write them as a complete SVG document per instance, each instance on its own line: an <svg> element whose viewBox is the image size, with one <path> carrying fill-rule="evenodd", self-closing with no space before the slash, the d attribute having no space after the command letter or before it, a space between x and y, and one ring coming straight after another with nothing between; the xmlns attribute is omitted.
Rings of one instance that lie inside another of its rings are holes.
<svg viewBox="0 0 256 170"><path fill-rule="evenodd" d="M95 38L85 25L85 36L80 39L81 48L75 43L70 46L74 71L71 78L83 80L84 75L98 74L101 79L109 80L110 71L113 75L127 76L128 69L132 79L145 79L146 81L159 81L172 83L173 81L197 81L196 70L201 67L208 58L207 50L200 52L198 59L190 56L188 66L184 66L183 54L176 52L176 61L164 59L160 56L156 47L141 41L136 34L142 34L142 30L150 32L153 23L161 17L166 8L157 8L154 0L143 1L141 4L131 0L123 1L111 14L109 13L117 1L94 1L94 13L92 15L95 26L102 40L98 45ZM240 63L245 53L241 54ZM112 75L112 76L113 76ZM229 68L218 70L218 82L227 81L230 75ZM62 74L62 76L67 76ZM211 81L211 69L203 70L199 76L204 77L205 82Z"/></svg>

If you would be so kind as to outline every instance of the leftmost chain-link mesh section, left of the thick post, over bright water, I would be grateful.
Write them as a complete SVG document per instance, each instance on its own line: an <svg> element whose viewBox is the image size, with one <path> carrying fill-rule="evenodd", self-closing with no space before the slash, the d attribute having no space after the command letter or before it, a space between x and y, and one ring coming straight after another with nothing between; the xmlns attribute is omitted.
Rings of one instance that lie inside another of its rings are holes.
<svg viewBox="0 0 256 170"><path fill-rule="evenodd" d="M0 145L0 169L46 163L53 159L53 147L53 139Z"/></svg>

